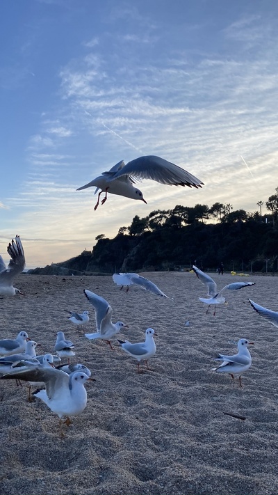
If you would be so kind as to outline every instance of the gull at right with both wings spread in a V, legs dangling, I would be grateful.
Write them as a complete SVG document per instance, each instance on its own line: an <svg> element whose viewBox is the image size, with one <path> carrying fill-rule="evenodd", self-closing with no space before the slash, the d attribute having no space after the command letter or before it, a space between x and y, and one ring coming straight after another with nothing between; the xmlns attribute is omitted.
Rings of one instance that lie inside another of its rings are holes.
<svg viewBox="0 0 278 495"><path fill-rule="evenodd" d="M204 285L206 285L206 288L208 290L208 294L207 294L208 297L207 298L199 297L199 301L202 301L203 303L208 304L208 309L209 309L209 306L211 306L213 304L214 305L213 315L215 315L215 313L216 313L216 304L227 304L226 299L222 296L222 292L224 292L224 290L227 290L227 289L238 290L238 289L242 289L243 287L250 287L250 285L255 285L255 282L233 282L233 283L229 283L228 285L225 285L218 292L217 285L216 285L215 281L213 280L213 278L211 278L207 274L204 274L204 272L202 272L202 270L195 267L194 265L192 268L193 268L195 274L197 275L197 278L199 278L199 280L202 283L204 283ZM208 309L206 310L206 313L208 313Z"/></svg>

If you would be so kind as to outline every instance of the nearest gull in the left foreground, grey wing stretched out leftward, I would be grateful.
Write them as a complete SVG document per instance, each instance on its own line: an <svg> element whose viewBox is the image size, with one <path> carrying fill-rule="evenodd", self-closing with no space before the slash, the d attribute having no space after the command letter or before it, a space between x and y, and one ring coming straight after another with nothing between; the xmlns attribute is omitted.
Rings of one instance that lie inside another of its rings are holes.
<svg viewBox="0 0 278 495"><path fill-rule="evenodd" d="M62 418L67 419L65 423L70 425L69 416L79 416L87 405L87 393L84 384L87 380L95 382L94 378L88 377L84 372L74 372L67 375L64 371L43 366L30 366L27 369L14 370L1 379L20 379L26 382L43 382L45 389L33 392L33 396L43 400L45 404L58 414L60 421L60 434L65 437L62 430Z"/></svg>

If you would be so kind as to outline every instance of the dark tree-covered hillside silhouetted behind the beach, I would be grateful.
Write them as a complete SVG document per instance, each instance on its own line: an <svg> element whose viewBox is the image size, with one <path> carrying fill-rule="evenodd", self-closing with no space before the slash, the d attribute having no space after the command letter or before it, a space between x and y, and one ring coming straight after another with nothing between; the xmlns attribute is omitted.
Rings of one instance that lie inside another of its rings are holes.
<svg viewBox="0 0 278 495"><path fill-rule="evenodd" d="M96 237L90 251L61 267L81 272L136 272L190 268L248 272L278 272L278 187L265 202L270 214L234 210L214 203L172 210L156 210L147 217L136 215L113 239Z"/></svg>

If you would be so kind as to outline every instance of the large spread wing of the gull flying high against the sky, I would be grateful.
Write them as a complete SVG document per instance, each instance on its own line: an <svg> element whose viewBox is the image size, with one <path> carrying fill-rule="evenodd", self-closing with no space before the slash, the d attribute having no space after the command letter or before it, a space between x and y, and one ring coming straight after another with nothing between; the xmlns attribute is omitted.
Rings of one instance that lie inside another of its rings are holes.
<svg viewBox="0 0 278 495"><path fill-rule="evenodd" d="M203 182L183 168L167 160L149 155L131 160L111 176L111 180L122 175L133 175L136 179L151 179L161 184L202 187Z"/></svg>

